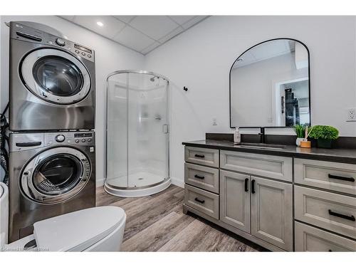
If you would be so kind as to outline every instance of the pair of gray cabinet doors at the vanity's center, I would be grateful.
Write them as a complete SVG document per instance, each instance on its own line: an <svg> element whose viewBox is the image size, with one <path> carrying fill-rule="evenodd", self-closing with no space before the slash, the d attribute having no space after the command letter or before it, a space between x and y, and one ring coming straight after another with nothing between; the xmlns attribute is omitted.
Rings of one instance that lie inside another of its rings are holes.
<svg viewBox="0 0 356 267"><path fill-rule="evenodd" d="M220 220L293 250L292 184L220 171Z"/></svg>

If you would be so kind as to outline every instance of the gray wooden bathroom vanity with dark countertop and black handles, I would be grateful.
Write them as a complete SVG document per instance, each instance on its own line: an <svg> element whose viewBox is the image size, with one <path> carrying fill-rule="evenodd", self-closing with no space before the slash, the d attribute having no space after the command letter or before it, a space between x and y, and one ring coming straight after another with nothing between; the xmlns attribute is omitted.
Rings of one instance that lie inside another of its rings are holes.
<svg viewBox="0 0 356 267"><path fill-rule="evenodd" d="M183 145L184 213L271 251L356 251L356 150Z"/></svg>

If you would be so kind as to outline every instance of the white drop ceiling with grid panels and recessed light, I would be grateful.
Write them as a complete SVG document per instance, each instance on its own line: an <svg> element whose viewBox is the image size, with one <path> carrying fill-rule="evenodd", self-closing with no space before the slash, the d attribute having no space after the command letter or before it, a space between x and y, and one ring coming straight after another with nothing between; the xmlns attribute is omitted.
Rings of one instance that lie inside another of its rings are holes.
<svg viewBox="0 0 356 267"><path fill-rule="evenodd" d="M110 40L146 55L207 16L61 16ZM89 21L92 20L90 24ZM96 21L102 21L101 29ZM114 26L117 21L117 27ZM105 25L105 23L107 25ZM113 35L110 36L110 28Z"/></svg>

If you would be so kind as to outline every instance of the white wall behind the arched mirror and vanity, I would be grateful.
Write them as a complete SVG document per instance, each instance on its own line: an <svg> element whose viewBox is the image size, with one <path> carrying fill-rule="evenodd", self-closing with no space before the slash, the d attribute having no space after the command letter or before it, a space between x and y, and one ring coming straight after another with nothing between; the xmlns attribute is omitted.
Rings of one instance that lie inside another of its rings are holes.
<svg viewBox="0 0 356 267"><path fill-rule="evenodd" d="M310 50L313 125L356 136L356 123L345 122L345 108L356 106L355 34L352 16L212 16L149 53L145 68L172 81L171 176L183 180L183 141L230 132L229 69L247 48L271 38L295 38Z"/></svg>

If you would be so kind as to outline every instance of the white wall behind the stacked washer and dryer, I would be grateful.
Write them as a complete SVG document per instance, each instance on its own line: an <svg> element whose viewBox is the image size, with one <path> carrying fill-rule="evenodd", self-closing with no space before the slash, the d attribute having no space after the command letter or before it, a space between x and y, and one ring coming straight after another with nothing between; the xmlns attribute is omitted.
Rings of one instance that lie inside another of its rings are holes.
<svg viewBox="0 0 356 267"><path fill-rule="evenodd" d="M142 69L145 57L118 43L76 26L57 16L1 16L1 110L9 101L9 28L5 21L34 21L46 24L95 50L96 72L96 165L98 184L105 175L106 77L115 70Z"/></svg>

